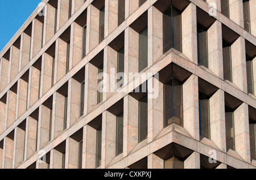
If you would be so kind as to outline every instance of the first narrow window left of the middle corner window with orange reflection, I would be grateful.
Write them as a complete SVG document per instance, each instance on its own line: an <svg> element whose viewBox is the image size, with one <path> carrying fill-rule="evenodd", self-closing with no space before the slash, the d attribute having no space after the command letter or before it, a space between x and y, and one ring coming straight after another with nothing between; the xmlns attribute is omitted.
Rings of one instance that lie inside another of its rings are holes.
<svg viewBox="0 0 256 180"><path fill-rule="evenodd" d="M147 138L147 96L139 101L139 143Z"/></svg>

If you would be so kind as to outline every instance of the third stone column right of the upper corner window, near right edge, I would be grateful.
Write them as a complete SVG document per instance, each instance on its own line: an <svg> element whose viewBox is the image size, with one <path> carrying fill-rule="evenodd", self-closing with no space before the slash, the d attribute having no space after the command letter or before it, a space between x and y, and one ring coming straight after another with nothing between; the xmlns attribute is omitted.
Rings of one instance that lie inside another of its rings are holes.
<svg viewBox="0 0 256 180"><path fill-rule="evenodd" d="M245 39L239 37L231 45L233 83L247 93Z"/></svg>

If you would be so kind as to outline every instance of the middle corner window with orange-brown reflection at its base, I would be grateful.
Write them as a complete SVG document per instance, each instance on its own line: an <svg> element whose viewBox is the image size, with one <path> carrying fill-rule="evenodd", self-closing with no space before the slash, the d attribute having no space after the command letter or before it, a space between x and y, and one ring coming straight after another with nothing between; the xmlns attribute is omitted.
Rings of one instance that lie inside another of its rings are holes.
<svg viewBox="0 0 256 180"><path fill-rule="evenodd" d="M164 127L183 126L182 83L172 78L164 84Z"/></svg>

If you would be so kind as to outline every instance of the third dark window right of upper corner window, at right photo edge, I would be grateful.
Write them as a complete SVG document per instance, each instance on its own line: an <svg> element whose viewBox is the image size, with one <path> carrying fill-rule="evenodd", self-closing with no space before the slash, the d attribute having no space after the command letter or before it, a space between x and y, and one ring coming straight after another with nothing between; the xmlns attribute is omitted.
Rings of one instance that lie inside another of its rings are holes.
<svg viewBox="0 0 256 180"><path fill-rule="evenodd" d="M246 57L247 91L254 95L253 59Z"/></svg>

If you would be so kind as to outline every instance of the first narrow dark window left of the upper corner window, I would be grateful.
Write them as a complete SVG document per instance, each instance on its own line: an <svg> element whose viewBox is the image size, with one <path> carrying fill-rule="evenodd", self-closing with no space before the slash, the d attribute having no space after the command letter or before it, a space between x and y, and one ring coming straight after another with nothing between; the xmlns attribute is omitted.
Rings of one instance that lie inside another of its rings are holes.
<svg viewBox="0 0 256 180"><path fill-rule="evenodd" d="M147 27L139 33L139 72L147 67Z"/></svg>

